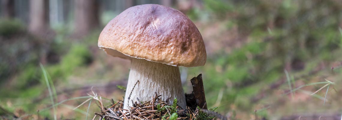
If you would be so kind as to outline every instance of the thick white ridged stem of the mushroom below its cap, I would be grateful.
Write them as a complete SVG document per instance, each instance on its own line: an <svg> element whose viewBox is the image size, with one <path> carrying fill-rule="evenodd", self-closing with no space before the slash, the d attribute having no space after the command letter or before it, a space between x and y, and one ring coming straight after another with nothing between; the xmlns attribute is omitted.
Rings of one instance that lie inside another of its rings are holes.
<svg viewBox="0 0 342 120"><path fill-rule="evenodd" d="M138 80L139 83L132 90ZM169 104L172 104L173 98L176 97L178 105L185 109L186 100L178 67L133 58L123 108L128 109L128 104L132 106L132 100L135 102L136 98L141 101L150 101L155 96L155 92L162 95L163 101L171 97ZM129 101L128 98L130 98Z"/></svg>

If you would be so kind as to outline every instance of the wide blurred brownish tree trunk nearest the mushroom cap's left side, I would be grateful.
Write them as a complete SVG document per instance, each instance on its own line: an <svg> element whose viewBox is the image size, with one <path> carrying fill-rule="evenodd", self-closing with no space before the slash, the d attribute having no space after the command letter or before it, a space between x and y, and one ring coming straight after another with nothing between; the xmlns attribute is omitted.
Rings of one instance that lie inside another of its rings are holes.
<svg viewBox="0 0 342 120"><path fill-rule="evenodd" d="M98 0L75 0L74 37L81 38L99 27L98 12Z"/></svg>

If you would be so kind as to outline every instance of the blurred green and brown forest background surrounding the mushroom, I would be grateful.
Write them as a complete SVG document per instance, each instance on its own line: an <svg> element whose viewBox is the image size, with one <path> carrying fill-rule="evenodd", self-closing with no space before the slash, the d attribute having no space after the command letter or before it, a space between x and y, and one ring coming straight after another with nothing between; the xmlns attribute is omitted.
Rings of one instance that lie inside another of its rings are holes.
<svg viewBox="0 0 342 120"><path fill-rule="evenodd" d="M201 32L206 65L180 70L187 93L203 74L209 108L241 120L341 119L341 0L0 1L0 119L92 119L94 101L88 114L89 103L73 110L92 86L122 99L130 61L97 39L123 10L150 3L180 10Z"/></svg>

